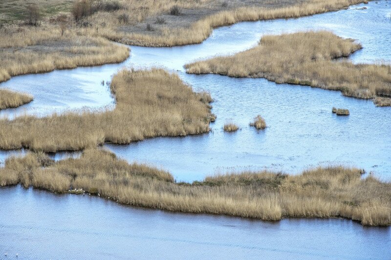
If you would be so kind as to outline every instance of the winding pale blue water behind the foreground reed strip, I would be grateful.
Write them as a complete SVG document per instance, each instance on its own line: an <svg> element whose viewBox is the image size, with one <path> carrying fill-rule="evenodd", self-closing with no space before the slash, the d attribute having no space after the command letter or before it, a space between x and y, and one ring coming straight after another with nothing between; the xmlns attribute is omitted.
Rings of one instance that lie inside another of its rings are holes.
<svg viewBox="0 0 391 260"><path fill-rule="evenodd" d="M298 173L307 167L344 164L391 179L391 107L375 107L371 100L343 97L338 91L307 86L276 84L264 79L236 79L219 75L188 75L189 61L238 52L257 44L263 34L309 29L331 30L353 38L364 48L351 56L353 62L391 61L390 6L386 1L352 6L348 10L290 20L241 22L218 28L202 44L146 48L131 46L131 57L120 64L54 71L14 77L0 87L26 91L35 100L2 116L22 113L39 116L69 109L113 107L107 85L124 66L162 66L177 72L195 90L211 92L216 100L217 121L213 132L184 138L155 138L130 145L105 147L129 161L151 163L169 170L177 180L200 180L227 170L271 169ZM357 8L367 7L365 10ZM331 108L350 110L337 117ZM261 114L264 131L248 123ZM237 133L224 133L227 121L239 124ZM2 152L4 159L8 154ZM170 155L170 156L167 156Z"/></svg>

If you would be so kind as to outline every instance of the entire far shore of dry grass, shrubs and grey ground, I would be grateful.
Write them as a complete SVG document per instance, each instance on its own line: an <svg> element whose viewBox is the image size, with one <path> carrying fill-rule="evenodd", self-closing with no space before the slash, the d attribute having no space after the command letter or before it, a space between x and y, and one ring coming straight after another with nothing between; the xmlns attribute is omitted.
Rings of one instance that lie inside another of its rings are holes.
<svg viewBox="0 0 391 260"><path fill-rule="evenodd" d="M125 47L200 43L214 27L239 21L296 18L334 11L363 0L84 0L95 6L75 19L79 0L38 0L41 26L26 25L30 2L0 2L0 82L11 76L125 60ZM97 6L100 6L99 8ZM177 15L171 9L178 8ZM24 14L24 15L23 15ZM5 20L11 25L2 25ZM76 21L77 20L77 21Z"/></svg>

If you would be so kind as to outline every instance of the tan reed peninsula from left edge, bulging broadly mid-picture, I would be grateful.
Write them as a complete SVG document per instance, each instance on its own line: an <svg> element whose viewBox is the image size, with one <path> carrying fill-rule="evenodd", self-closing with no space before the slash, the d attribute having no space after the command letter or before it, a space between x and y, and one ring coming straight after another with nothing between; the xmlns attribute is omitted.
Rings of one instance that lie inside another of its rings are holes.
<svg viewBox="0 0 391 260"><path fill-rule="evenodd" d="M0 149L82 150L104 142L209 131L210 95L193 92L176 74L161 69L123 70L113 77L110 88L116 98L112 111L1 119Z"/></svg>

